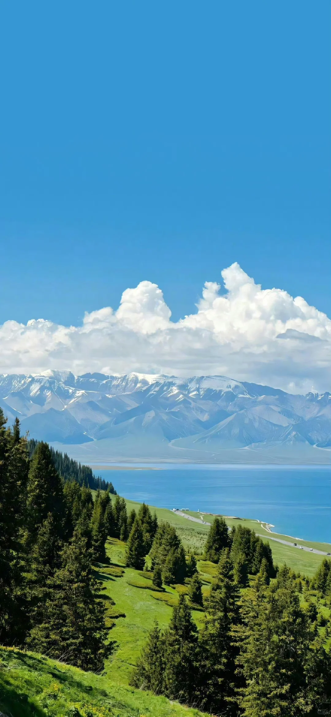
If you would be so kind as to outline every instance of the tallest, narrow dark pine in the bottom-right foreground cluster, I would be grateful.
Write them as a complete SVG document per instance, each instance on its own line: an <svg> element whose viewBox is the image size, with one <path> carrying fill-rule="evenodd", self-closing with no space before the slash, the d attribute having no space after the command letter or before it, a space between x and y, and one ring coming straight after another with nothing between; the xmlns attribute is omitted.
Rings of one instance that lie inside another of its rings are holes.
<svg viewBox="0 0 331 717"><path fill-rule="evenodd" d="M204 675L201 701L204 709L227 716L238 714L236 659L239 650L233 640L233 629L241 620L239 597L230 551L224 549L210 590L207 616L201 632Z"/></svg>

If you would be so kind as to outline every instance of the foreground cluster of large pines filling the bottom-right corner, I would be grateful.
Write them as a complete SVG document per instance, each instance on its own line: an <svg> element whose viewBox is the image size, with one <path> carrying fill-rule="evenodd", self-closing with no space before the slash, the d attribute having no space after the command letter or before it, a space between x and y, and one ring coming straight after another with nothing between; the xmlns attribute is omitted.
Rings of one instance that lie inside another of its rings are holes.
<svg viewBox="0 0 331 717"><path fill-rule="evenodd" d="M292 571L269 581L263 563L243 591L223 548L205 608L198 631L180 596L169 627L149 633L132 685L227 717L330 713L330 652Z"/></svg>

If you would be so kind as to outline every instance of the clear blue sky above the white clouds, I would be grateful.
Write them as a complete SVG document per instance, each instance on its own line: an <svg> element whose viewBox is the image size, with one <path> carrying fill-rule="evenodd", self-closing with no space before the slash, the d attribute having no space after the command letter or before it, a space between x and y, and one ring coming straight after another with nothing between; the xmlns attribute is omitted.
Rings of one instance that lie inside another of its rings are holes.
<svg viewBox="0 0 331 717"><path fill-rule="evenodd" d="M330 8L2 4L0 323L233 262L331 315Z"/></svg>

